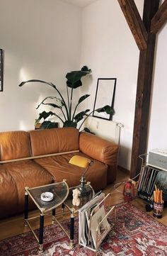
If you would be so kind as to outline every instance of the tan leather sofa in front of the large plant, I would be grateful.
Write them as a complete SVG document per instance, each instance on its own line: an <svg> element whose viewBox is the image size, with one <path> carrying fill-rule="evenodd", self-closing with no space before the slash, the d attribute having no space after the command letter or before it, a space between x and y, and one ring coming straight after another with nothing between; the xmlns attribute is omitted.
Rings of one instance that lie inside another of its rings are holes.
<svg viewBox="0 0 167 256"><path fill-rule="evenodd" d="M73 155L93 160L86 180L96 191L105 188L115 181L117 153L118 145L76 128L0 133L0 218L23 212L25 187L79 184L84 168L69 164Z"/></svg>

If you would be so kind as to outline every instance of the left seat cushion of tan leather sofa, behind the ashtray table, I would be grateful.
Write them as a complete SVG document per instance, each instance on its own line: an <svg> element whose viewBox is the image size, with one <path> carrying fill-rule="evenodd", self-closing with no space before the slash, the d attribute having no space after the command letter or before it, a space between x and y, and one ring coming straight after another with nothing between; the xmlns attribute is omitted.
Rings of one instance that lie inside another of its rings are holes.
<svg viewBox="0 0 167 256"><path fill-rule="evenodd" d="M13 200L11 206L8 205L10 211L13 211L13 208L15 208L14 212L23 212L25 187L38 187L52 183L52 175L33 160L10 162L0 166L1 169L5 169L6 173L8 173L6 179L11 180L8 183L10 185L4 189L6 191L4 195L6 201ZM0 172L0 177L1 174ZM17 202L15 202L16 199ZM34 208L33 201L30 201L30 208ZM10 212L6 213L7 215L11 215Z"/></svg>

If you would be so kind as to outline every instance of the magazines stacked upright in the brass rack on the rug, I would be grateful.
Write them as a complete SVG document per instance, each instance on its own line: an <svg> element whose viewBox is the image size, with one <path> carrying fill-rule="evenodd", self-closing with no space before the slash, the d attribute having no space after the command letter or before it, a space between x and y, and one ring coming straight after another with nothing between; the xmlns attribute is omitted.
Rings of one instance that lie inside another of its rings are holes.
<svg viewBox="0 0 167 256"><path fill-rule="evenodd" d="M79 210L79 244L98 249L112 225L108 222L104 206L105 194L93 197Z"/></svg>

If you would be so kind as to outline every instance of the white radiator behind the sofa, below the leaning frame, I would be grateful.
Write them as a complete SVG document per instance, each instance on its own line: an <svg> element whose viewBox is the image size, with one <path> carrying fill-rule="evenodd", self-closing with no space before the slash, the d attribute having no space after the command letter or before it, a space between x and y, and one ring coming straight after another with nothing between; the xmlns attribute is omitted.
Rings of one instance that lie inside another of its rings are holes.
<svg viewBox="0 0 167 256"><path fill-rule="evenodd" d="M84 128L85 127L101 138L111 140L116 144L120 144L120 128L122 127L121 123L88 116L84 122Z"/></svg>

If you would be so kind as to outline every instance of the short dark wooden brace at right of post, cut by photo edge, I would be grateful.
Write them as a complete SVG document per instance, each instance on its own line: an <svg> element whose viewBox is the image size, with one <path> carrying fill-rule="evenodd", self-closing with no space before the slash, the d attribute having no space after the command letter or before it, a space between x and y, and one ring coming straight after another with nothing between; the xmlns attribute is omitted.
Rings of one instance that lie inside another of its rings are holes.
<svg viewBox="0 0 167 256"><path fill-rule="evenodd" d="M156 12L151 20L151 33L157 33L160 28L167 21L167 0L163 1L163 4L159 7L159 11Z"/></svg>

